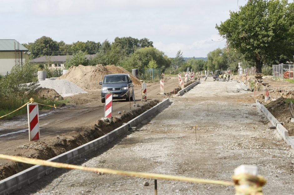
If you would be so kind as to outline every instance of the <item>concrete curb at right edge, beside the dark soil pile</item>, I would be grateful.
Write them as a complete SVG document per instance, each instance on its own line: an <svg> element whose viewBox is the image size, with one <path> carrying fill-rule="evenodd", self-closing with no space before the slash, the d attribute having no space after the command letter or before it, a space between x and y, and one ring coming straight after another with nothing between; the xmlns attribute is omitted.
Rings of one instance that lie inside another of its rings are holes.
<svg viewBox="0 0 294 195"><path fill-rule="evenodd" d="M264 105L259 103L259 100L256 100L256 105L259 110L261 110L263 114L266 115L266 118L271 122L271 124L276 127L277 131L283 137L286 143L294 149L294 139L289 136L288 130L270 113L270 111L266 109Z"/></svg>

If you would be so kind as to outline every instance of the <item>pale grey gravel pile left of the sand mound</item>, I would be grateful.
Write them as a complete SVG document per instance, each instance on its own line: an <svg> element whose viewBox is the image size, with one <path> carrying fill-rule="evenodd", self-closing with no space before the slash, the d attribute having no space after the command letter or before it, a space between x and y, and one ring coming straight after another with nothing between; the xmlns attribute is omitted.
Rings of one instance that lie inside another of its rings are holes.
<svg viewBox="0 0 294 195"><path fill-rule="evenodd" d="M39 81L39 83L40 83L40 87L54 89L62 97L76 95L79 93L87 93L79 86L64 79L42 80L42 81Z"/></svg>

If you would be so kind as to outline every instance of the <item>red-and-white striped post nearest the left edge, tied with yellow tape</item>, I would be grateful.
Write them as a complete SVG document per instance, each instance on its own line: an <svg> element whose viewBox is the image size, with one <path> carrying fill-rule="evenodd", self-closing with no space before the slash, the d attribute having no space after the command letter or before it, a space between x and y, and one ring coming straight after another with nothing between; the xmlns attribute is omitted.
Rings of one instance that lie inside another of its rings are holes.
<svg viewBox="0 0 294 195"><path fill-rule="evenodd" d="M29 141L40 139L39 108L37 103L29 103L28 107L28 137Z"/></svg>

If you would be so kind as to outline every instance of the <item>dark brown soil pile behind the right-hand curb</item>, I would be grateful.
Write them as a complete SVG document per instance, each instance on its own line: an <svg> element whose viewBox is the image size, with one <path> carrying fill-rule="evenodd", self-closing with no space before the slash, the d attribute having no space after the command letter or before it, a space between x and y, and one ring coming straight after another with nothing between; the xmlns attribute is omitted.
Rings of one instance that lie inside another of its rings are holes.
<svg viewBox="0 0 294 195"><path fill-rule="evenodd" d="M265 105L267 110L279 121L283 122L283 126L289 131L289 135L294 135L294 125L291 123L291 114L289 111L289 103L284 97L280 97L275 101L271 101Z"/></svg>

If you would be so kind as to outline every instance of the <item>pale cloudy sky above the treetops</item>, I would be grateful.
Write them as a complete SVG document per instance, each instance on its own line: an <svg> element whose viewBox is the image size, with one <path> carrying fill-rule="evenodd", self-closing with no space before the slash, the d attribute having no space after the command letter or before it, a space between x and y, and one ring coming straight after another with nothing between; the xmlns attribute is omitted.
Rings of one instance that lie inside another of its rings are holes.
<svg viewBox="0 0 294 195"><path fill-rule="evenodd" d="M148 38L169 57L206 57L225 47L216 24L247 0L0 0L0 39L103 42Z"/></svg>

